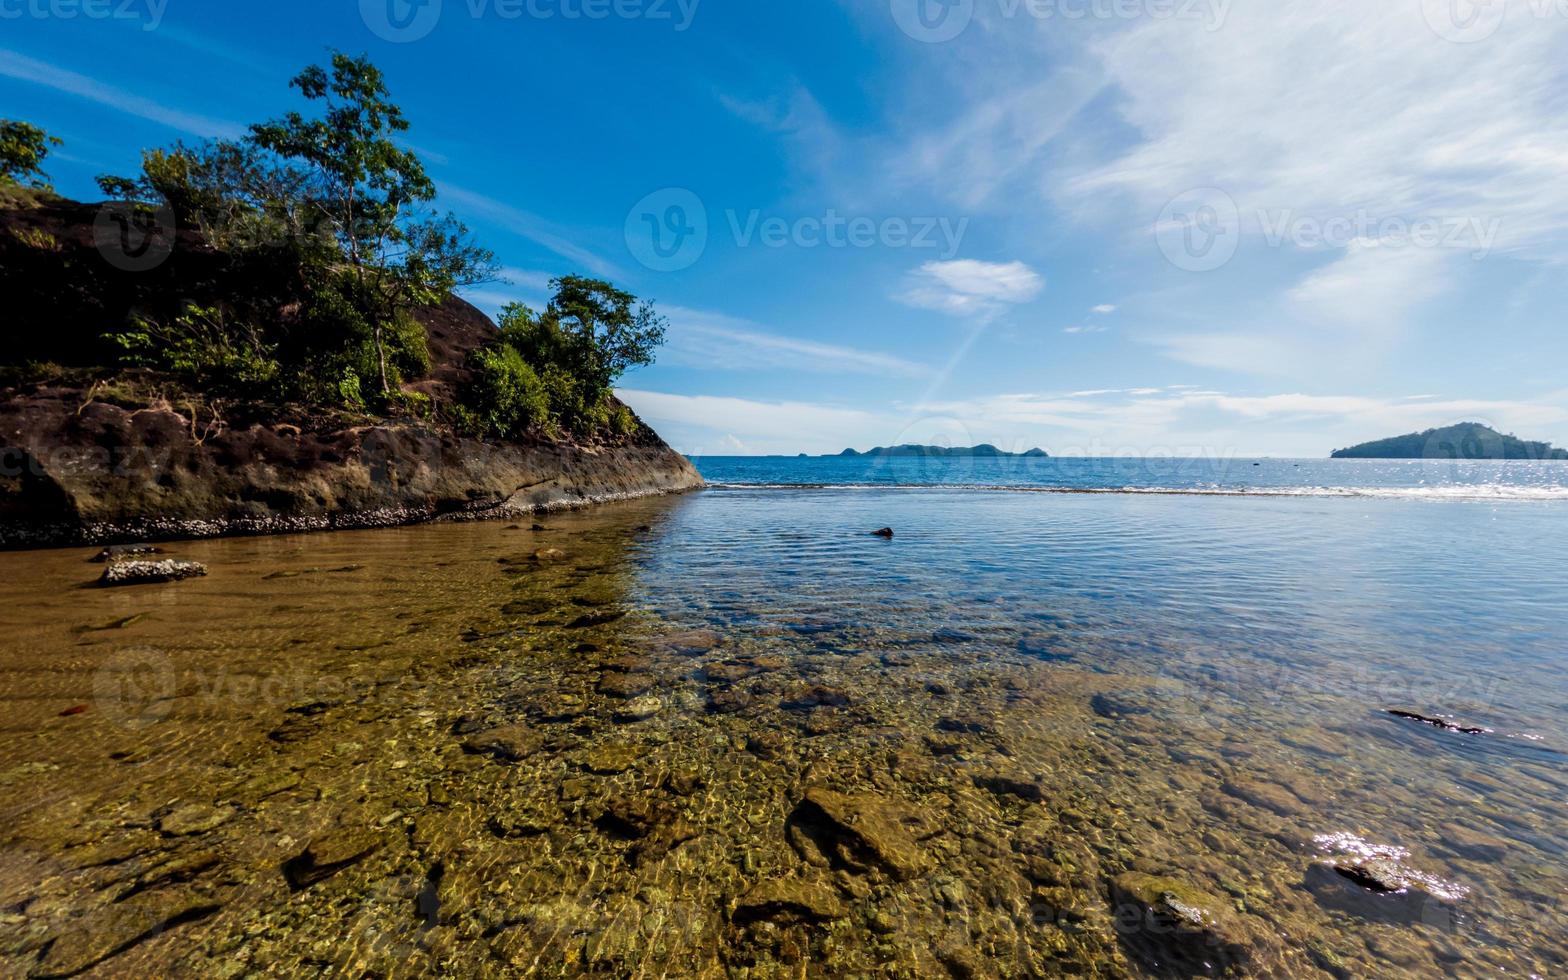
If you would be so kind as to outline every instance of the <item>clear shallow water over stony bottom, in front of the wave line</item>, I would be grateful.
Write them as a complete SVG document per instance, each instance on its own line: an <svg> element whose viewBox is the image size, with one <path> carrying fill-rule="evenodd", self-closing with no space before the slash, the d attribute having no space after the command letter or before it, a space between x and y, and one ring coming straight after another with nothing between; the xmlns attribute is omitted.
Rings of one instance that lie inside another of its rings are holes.
<svg viewBox="0 0 1568 980"><path fill-rule="evenodd" d="M0 974L1565 967L1559 505L544 524L0 557Z"/></svg>

